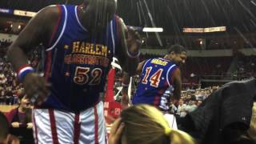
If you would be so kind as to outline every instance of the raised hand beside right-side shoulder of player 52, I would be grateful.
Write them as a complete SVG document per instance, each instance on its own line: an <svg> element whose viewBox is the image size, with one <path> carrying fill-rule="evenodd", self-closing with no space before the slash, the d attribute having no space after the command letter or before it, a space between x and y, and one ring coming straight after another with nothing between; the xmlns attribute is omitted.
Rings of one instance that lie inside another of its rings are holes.
<svg viewBox="0 0 256 144"><path fill-rule="evenodd" d="M140 47L142 46L142 38L132 27L127 27L126 30L126 44L130 54L138 54Z"/></svg>

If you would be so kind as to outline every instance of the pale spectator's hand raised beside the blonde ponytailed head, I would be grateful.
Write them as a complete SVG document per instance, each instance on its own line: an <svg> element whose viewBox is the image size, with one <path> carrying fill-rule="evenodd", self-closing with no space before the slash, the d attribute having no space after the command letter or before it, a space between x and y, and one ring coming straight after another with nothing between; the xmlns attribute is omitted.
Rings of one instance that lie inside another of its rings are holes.
<svg viewBox="0 0 256 144"><path fill-rule="evenodd" d="M121 143L122 131L125 125L121 122L121 118L118 118L110 130L109 144L119 144Z"/></svg>

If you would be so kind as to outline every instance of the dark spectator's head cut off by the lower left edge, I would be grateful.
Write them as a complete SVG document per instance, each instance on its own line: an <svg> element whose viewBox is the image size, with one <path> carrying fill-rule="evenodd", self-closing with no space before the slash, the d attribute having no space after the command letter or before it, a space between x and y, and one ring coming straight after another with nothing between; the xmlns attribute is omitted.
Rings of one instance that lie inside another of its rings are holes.
<svg viewBox="0 0 256 144"><path fill-rule="evenodd" d="M0 112L0 143L6 141L7 135L9 134L9 124L4 114Z"/></svg>

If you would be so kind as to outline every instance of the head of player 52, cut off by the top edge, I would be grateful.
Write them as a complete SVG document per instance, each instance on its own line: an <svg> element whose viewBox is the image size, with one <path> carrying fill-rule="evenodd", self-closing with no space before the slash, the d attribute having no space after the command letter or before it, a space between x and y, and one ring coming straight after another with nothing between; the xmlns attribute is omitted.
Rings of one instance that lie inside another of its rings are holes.
<svg viewBox="0 0 256 144"><path fill-rule="evenodd" d="M90 30L104 30L117 10L117 0L84 0Z"/></svg>

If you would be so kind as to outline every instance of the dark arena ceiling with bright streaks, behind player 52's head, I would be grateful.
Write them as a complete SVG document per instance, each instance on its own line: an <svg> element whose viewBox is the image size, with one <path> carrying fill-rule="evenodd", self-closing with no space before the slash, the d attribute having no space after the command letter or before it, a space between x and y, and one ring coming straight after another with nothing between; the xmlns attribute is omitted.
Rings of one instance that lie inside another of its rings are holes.
<svg viewBox="0 0 256 144"><path fill-rule="evenodd" d="M0 8L38 11L52 4L82 0L0 0ZM148 9L147 9L148 7ZM182 27L227 26L256 32L256 0L118 0L118 15L130 26L162 26L175 34Z"/></svg>

